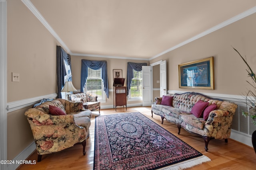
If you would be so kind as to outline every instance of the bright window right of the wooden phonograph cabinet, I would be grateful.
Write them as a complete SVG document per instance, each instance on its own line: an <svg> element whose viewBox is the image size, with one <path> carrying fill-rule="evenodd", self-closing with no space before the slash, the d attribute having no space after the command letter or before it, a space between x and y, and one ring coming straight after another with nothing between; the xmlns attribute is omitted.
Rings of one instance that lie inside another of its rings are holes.
<svg viewBox="0 0 256 170"><path fill-rule="evenodd" d="M142 71L133 70L131 89L129 93L130 99L142 98Z"/></svg>

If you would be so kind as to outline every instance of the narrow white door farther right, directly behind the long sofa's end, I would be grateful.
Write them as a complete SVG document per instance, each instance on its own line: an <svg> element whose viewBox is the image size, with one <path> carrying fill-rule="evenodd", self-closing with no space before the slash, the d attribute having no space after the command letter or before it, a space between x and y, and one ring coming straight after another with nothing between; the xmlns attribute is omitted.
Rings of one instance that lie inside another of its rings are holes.
<svg viewBox="0 0 256 170"><path fill-rule="evenodd" d="M160 96L166 95L166 60L160 63Z"/></svg>

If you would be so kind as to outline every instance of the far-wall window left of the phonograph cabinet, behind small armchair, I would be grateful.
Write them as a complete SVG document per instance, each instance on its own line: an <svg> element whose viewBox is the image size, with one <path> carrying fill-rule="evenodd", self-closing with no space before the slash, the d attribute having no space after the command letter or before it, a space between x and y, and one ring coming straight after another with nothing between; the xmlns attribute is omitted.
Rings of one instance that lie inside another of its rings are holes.
<svg viewBox="0 0 256 170"><path fill-rule="evenodd" d="M86 81L85 91L93 96L98 96L97 100L106 100L106 95L103 89L103 81L101 79L101 68L93 70L88 68L88 77Z"/></svg>

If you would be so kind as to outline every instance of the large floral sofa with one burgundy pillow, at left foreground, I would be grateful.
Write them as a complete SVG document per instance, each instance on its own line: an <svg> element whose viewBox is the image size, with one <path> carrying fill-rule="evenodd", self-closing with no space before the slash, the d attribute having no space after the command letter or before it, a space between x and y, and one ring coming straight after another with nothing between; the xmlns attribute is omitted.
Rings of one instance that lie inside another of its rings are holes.
<svg viewBox="0 0 256 170"><path fill-rule="evenodd" d="M36 143L38 162L43 154L58 152L77 144L83 145L89 137L92 112L82 102L56 99L28 109L26 118Z"/></svg>

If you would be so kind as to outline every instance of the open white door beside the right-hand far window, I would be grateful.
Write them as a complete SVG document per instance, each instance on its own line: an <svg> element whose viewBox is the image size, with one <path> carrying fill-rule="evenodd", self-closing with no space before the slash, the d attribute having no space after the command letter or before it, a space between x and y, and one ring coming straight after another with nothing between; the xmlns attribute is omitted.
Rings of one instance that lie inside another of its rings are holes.
<svg viewBox="0 0 256 170"><path fill-rule="evenodd" d="M151 77L151 66L142 66L142 106L151 106L152 103Z"/></svg>

